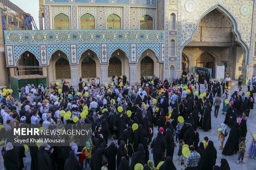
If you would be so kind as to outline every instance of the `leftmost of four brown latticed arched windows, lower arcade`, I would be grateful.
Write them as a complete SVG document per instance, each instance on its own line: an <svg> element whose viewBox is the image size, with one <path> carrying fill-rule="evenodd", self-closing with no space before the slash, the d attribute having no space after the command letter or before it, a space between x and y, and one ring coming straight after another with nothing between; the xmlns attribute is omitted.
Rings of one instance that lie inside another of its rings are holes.
<svg viewBox="0 0 256 170"><path fill-rule="evenodd" d="M56 79L71 79L71 72L69 67L69 61L65 58L60 58L55 63Z"/></svg>

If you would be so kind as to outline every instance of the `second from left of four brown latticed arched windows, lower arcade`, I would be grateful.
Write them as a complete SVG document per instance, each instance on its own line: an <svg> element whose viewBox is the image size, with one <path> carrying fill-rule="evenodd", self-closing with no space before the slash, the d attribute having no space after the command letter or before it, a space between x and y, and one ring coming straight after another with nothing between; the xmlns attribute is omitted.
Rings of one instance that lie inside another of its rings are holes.
<svg viewBox="0 0 256 170"><path fill-rule="evenodd" d="M82 77L96 77L96 63L90 57L87 57L82 61Z"/></svg>

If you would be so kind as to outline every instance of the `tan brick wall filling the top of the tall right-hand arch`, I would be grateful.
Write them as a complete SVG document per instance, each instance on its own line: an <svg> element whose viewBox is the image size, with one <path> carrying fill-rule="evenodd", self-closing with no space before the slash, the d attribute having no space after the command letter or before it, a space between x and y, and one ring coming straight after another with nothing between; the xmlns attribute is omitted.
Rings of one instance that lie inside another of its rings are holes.
<svg viewBox="0 0 256 170"><path fill-rule="evenodd" d="M220 13L209 13L199 22L194 42L232 42L230 20Z"/></svg>

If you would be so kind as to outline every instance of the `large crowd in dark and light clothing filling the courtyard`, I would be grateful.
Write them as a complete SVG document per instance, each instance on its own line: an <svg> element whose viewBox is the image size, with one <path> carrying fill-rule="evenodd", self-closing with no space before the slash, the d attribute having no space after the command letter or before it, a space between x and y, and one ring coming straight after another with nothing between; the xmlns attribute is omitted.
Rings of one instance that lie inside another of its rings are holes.
<svg viewBox="0 0 256 170"><path fill-rule="evenodd" d="M244 93L238 86L229 96L226 82L219 79L212 82L209 72L190 74L184 71L180 78L173 82L165 79L163 83L155 75L141 76L141 86L129 84L125 75L114 75L113 80L113 85L100 86L97 77L89 85L81 77L76 90L66 81L62 88L57 83L53 89L44 87L43 83L37 88L26 84L19 89L20 105L15 103L11 93L2 96L0 121L4 128L0 131L6 135L0 136L0 141L7 139L0 144L5 145L2 147L5 168L21 170L26 166L24 147L13 147L13 141L8 140L8 134L21 123L43 123L47 125L45 128L51 129L64 127L66 123L90 123L92 137L85 146L79 146L77 138L65 139L70 147L50 146L46 142L39 148L30 147L31 170L80 170L84 167L137 170L140 164L144 170L155 170L159 163L159 170L176 170L173 163L176 146L186 170L230 170L225 158L220 160L220 166L216 165L217 151L209 137L205 136L203 142L199 140L198 129L205 132L212 129L211 111L214 109L217 118L221 105L226 116L218 129L219 149L223 155L239 152L237 163L240 159L244 163L247 117L254 107L253 89L248 88L249 92ZM204 89L200 89L200 84L205 84ZM88 115L81 117L85 106ZM62 110L72 113L69 119L60 115ZM74 116L79 120L73 122ZM133 127L135 124L137 128ZM227 127L231 128L230 132ZM247 153L256 158L256 140L251 136ZM228 139L223 146L225 138ZM191 154L184 155L184 147L188 147ZM150 154L153 160L149 159Z"/></svg>

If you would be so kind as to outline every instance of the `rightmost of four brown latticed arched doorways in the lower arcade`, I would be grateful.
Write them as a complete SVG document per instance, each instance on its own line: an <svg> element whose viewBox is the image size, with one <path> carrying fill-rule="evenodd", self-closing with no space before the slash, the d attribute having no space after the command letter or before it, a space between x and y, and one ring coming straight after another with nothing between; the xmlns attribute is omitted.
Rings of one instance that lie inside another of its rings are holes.
<svg viewBox="0 0 256 170"><path fill-rule="evenodd" d="M140 75L153 76L154 74L154 61L149 56L143 58L140 62Z"/></svg>

